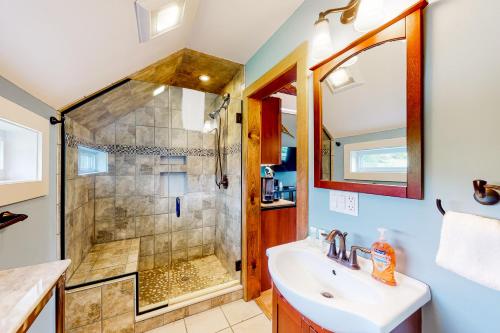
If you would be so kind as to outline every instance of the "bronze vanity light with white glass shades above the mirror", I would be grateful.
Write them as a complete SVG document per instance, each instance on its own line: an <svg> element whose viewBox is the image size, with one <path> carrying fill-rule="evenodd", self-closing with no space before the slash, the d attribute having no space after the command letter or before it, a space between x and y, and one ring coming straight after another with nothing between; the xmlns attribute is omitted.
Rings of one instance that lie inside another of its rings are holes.
<svg viewBox="0 0 500 333"><path fill-rule="evenodd" d="M330 21L326 17L334 13L342 13L340 16L342 24L354 22L354 28L357 31L370 31L379 26L384 19L384 0L350 0L344 7L332 8L319 13L318 19L314 23L312 41L315 61L321 61L333 53Z"/></svg>

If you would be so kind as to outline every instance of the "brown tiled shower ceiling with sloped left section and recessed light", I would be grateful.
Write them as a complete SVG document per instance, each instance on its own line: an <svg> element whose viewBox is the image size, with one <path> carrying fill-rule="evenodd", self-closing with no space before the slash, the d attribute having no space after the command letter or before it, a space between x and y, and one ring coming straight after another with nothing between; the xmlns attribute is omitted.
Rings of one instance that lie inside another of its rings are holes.
<svg viewBox="0 0 500 333"><path fill-rule="evenodd" d="M125 116L153 99L153 92L162 85L196 89L221 94L243 66L225 59L182 49L130 76L131 80L118 83L110 91L93 96L73 106L71 118L95 131ZM211 77L208 82L198 80L201 74Z"/></svg>

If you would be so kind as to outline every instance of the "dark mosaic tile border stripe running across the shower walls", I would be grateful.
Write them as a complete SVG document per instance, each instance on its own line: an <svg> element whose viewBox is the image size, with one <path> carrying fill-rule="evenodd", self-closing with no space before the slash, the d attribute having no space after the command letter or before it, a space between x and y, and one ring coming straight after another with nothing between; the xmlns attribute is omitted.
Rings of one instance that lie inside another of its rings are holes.
<svg viewBox="0 0 500 333"><path fill-rule="evenodd" d="M215 149L206 148L167 148L149 146L129 146L129 145L102 145L77 138L74 135L66 134L66 145L76 148L83 146L109 154L124 155L158 155L158 156L215 156ZM234 144L224 149L224 155L237 154L241 152L241 145Z"/></svg>

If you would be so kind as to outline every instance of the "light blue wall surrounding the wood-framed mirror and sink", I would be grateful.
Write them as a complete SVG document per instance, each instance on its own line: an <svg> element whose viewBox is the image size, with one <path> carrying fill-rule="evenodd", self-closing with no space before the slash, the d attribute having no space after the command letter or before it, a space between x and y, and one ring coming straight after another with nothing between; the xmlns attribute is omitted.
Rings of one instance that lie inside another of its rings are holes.
<svg viewBox="0 0 500 333"><path fill-rule="evenodd" d="M434 261L441 228L436 198L449 210L500 218L500 205L480 206L472 198L473 179L500 184L500 39L495 14L500 2L478 4L488 9L471 15L470 1L436 0L425 11L425 200L361 194L358 217L330 212L328 190L312 185L309 85L309 221L348 231L351 244L364 246L376 239L377 227L388 228L399 252L398 270L431 287L433 299L424 308L426 333L500 332L500 292L443 270ZM305 0L248 61L247 85L310 40L318 12L331 6L331 0ZM351 26L334 21L332 35L339 49L358 35Z"/></svg>

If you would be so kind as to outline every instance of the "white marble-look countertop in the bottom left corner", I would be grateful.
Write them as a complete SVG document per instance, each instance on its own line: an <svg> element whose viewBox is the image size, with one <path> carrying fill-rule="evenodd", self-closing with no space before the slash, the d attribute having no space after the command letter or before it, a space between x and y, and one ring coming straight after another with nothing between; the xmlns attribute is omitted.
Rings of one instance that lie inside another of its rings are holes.
<svg viewBox="0 0 500 333"><path fill-rule="evenodd" d="M0 271L0 332L17 332L71 260Z"/></svg>

